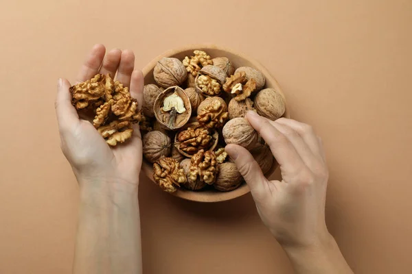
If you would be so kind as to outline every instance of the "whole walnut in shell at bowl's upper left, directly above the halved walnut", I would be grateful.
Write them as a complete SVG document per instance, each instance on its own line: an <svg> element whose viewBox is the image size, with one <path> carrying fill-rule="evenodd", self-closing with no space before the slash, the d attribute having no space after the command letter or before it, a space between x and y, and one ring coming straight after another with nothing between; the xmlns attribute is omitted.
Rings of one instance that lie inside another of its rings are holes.
<svg viewBox="0 0 412 274"><path fill-rule="evenodd" d="M159 86L168 88L170 86L180 86L185 82L187 71L179 59L164 57L157 62L153 76Z"/></svg>

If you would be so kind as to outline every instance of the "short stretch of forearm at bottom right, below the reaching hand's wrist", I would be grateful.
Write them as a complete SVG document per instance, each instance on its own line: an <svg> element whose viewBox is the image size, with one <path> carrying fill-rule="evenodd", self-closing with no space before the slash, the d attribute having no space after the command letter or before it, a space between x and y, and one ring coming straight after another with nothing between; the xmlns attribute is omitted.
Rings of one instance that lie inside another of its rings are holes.
<svg viewBox="0 0 412 274"><path fill-rule="evenodd" d="M284 247L298 274L353 274L332 236L317 247Z"/></svg>

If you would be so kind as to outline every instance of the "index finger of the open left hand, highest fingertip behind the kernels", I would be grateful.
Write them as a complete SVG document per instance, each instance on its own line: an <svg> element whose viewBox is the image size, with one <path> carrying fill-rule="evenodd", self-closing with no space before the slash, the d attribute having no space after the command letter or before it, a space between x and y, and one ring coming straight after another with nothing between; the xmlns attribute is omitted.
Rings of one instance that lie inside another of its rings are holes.
<svg viewBox="0 0 412 274"><path fill-rule="evenodd" d="M105 52L106 48L104 45L94 45L93 49L91 49L91 52L84 61L82 69L79 71L77 77L78 82L84 82L99 73L100 65L102 64Z"/></svg>

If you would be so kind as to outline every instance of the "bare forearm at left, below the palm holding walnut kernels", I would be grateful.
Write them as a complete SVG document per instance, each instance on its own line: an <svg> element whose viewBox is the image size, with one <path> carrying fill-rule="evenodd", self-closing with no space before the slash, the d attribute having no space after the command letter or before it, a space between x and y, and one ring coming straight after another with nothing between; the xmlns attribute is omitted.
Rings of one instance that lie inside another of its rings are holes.
<svg viewBox="0 0 412 274"><path fill-rule="evenodd" d="M141 273L137 184L82 184L73 273Z"/></svg>

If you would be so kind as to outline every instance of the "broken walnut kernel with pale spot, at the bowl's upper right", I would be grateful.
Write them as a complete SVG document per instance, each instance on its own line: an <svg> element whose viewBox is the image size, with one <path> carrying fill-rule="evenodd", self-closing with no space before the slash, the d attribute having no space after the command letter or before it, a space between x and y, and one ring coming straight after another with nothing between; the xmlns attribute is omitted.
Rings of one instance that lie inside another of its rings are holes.
<svg viewBox="0 0 412 274"><path fill-rule="evenodd" d="M226 83L223 85L223 90L236 95L235 99L237 101L243 101L251 96L252 92L256 90L256 81L255 79L248 80L246 73L240 71L226 79Z"/></svg>

